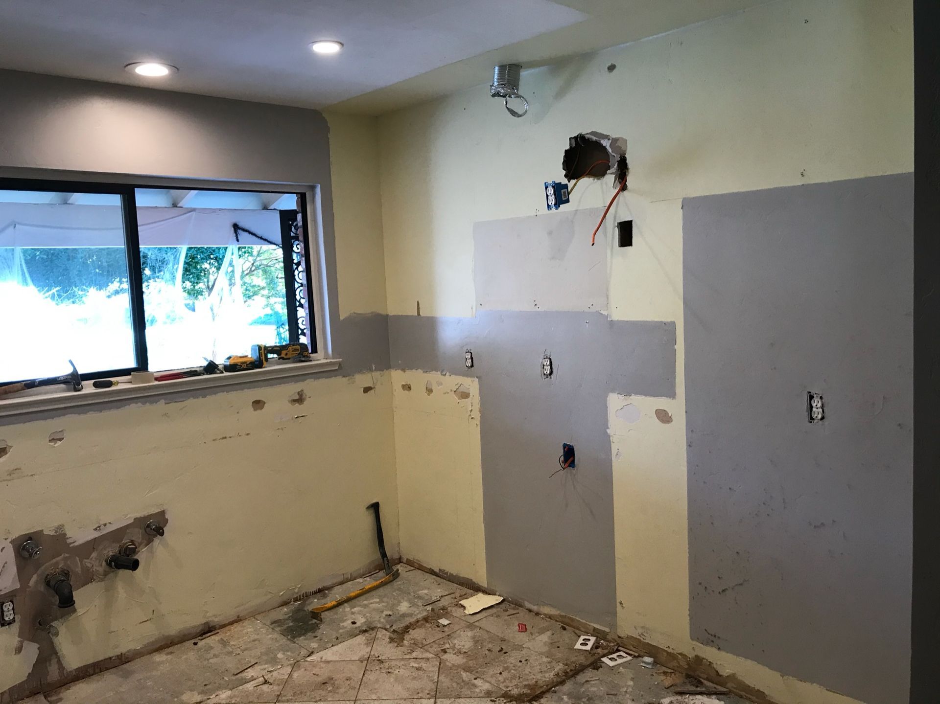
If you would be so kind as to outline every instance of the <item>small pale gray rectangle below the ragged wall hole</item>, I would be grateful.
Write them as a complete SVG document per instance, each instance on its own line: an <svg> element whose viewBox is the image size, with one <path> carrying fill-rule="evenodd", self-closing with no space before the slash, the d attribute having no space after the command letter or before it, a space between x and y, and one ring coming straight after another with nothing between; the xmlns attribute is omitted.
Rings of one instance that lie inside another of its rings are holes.
<svg viewBox="0 0 940 704"><path fill-rule="evenodd" d="M603 208L474 225L478 310L607 309L607 242L590 231Z"/></svg>

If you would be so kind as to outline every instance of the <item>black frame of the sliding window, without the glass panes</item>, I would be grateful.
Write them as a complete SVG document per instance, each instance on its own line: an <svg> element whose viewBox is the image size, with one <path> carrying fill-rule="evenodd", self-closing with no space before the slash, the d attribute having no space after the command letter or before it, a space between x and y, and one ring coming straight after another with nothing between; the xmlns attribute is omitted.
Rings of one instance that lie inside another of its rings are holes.
<svg viewBox="0 0 940 704"><path fill-rule="evenodd" d="M302 242L302 251L304 254L304 274L306 287L305 316L306 329L308 331L309 348L311 354L318 352L317 347L317 316L315 305L315 289L313 286L313 268L310 257L310 233L308 224L310 219L307 211L307 194L304 190L296 190L296 186L291 188L285 185L283 188L271 188L260 185L245 184L244 188L219 187L214 183L196 183L186 181L173 183L164 181L161 183L148 182L114 182L98 180L61 180L61 179L18 179L0 177L0 191L39 191L50 193L88 193L105 194L109 196L120 196L121 215L124 221L124 252L127 258L128 271L128 293L131 299L131 327L133 331L133 354L134 367L121 369L106 369L102 371L83 372L79 369L79 374L83 381L93 381L95 379L110 379L114 377L130 376L133 371L148 371L149 359L147 352L147 316L144 310L144 287L143 287L143 269L140 258L140 230L137 225L137 189L189 189L214 192L230 193L259 193L259 194L281 194L297 196L299 209L296 211L301 222L300 239ZM285 211L281 211L282 213ZM290 212L290 211L287 211ZM284 283L285 294L288 297L288 322L290 342L298 342L299 328L297 326L297 308L295 293L288 289L291 283L295 281L295 272L293 269L292 258L292 239L290 229L285 229L286 219L282 214L280 217L281 249L284 261ZM250 347L250 343L247 347ZM236 352L248 352L233 350ZM221 360L215 360L219 362ZM155 369L154 371L170 371L169 369ZM9 382L4 382L9 383Z"/></svg>

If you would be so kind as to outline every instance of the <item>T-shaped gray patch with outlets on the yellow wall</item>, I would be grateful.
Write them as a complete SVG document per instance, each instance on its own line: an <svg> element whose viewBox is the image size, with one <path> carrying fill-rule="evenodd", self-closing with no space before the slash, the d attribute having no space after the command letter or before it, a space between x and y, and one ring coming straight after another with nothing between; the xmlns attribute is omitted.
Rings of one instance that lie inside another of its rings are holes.
<svg viewBox="0 0 940 704"><path fill-rule="evenodd" d="M599 313L390 316L392 365L479 379L487 583L593 623L616 620L607 394L674 397L673 322ZM479 350L474 368L463 351ZM552 351L555 373L541 377ZM549 478L561 444L577 469Z"/></svg>

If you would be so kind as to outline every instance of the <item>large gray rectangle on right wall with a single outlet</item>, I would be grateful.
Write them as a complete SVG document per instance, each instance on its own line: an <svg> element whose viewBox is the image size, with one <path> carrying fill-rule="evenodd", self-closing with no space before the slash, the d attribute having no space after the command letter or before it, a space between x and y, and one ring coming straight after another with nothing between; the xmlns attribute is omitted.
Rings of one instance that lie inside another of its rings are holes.
<svg viewBox="0 0 940 704"><path fill-rule="evenodd" d="M692 636L870 704L908 698L912 213L911 175L683 201Z"/></svg>

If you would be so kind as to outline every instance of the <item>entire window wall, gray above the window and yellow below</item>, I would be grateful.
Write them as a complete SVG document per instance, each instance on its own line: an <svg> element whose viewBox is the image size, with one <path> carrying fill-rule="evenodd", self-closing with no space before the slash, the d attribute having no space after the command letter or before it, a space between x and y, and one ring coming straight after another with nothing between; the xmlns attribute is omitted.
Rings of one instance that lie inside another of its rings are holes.
<svg viewBox="0 0 940 704"><path fill-rule="evenodd" d="M33 530L88 535L161 509L169 522L141 553L140 570L78 589L76 610L54 613L58 635L36 636L54 660L39 658L39 644L18 628L0 629L0 701L367 570L378 560L371 501L382 503L388 551L398 555L387 328L357 315L384 308L382 261L363 276L350 265L359 258L368 267L365 240L382 247L368 221L379 195L364 195L357 181L357 169L376 170L374 151L369 164L361 146L374 128L331 122L331 155L315 111L12 71L0 71L0 94L0 175L55 169L316 186L329 291L318 324L343 358L334 378L0 423L0 547ZM58 430L64 438L51 443Z"/></svg>

